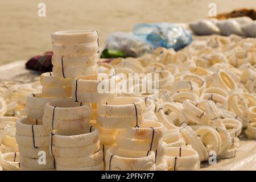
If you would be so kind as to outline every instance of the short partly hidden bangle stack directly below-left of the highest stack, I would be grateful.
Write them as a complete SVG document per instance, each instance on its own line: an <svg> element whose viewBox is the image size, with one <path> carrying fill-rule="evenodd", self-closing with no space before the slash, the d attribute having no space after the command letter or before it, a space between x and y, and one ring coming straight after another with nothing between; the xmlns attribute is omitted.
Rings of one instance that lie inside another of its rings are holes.
<svg viewBox="0 0 256 182"><path fill-rule="evenodd" d="M40 76L43 97L71 97L71 78L53 77L52 72Z"/></svg>

